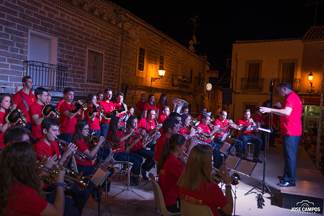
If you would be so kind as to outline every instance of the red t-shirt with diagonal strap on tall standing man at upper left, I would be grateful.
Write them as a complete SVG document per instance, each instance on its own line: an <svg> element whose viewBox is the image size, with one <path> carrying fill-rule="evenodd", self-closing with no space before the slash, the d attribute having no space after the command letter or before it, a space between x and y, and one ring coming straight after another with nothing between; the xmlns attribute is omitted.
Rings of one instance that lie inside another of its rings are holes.
<svg viewBox="0 0 324 216"><path fill-rule="evenodd" d="M24 92L22 91L22 89L19 90L18 92L19 92L19 93L22 95L22 97L25 99L26 104L27 104L28 109L29 109L29 108L30 108L30 105L32 105L32 104L36 101L34 94L32 94L32 93L29 91L29 95L27 95L26 93L24 93ZM27 118L26 120L27 120L27 122L31 122L31 119L30 119L30 116L29 116L28 110L27 110L27 108L26 108L26 106L25 106L25 103L22 101L21 96L18 94L18 92L17 92L16 94L13 95L13 97L12 97L12 104L17 105L16 108L17 108L17 109L20 109L20 110L21 110L21 111L26 115L26 118Z"/></svg>

